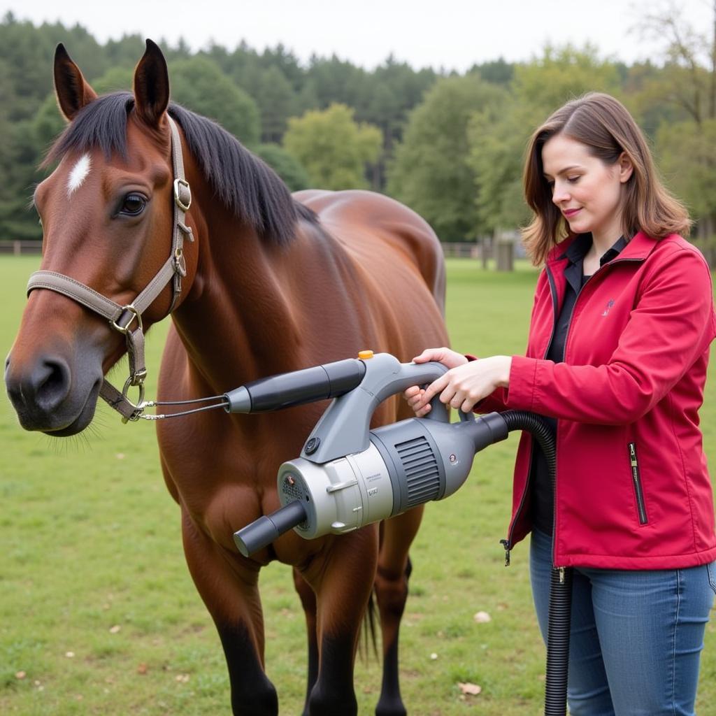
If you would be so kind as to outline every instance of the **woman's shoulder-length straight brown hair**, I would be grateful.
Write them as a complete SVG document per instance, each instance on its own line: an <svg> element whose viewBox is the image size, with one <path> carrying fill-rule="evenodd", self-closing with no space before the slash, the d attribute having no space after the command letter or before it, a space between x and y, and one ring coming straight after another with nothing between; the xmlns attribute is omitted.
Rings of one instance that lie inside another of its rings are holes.
<svg viewBox="0 0 716 716"><path fill-rule="evenodd" d="M542 165L542 147L558 134L586 145L591 155L606 165L614 164L622 152L632 161L634 171L624 185L622 197L621 231L627 239L638 231L652 238L671 233L688 235L688 212L664 188L647 140L632 115L614 97L590 92L554 112L534 132L528 145L523 182L525 198L534 214L523 228L522 238L535 264L543 263L550 249L569 235L561 211L552 202Z"/></svg>

